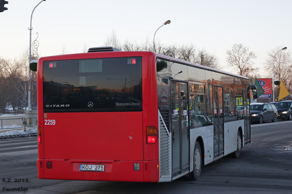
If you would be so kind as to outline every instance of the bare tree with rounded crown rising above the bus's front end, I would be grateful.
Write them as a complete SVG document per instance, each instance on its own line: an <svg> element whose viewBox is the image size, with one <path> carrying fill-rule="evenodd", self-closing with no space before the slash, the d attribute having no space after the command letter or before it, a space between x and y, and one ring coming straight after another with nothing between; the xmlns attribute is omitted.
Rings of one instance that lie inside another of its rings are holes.
<svg viewBox="0 0 292 194"><path fill-rule="evenodd" d="M242 44L234 44L232 50L227 50L226 54L228 66L233 67L241 76L251 78L251 75L260 69L254 67L255 63L251 61L251 59L257 58L256 54L252 51L249 52L249 48Z"/></svg>

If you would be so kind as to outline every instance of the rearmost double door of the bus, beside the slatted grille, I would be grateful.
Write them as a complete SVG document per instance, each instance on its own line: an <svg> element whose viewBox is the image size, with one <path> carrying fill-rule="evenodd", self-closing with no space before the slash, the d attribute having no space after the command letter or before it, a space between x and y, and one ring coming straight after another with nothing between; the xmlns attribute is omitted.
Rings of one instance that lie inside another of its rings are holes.
<svg viewBox="0 0 292 194"><path fill-rule="evenodd" d="M190 169L188 83L171 81L172 172L176 177Z"/></svg>

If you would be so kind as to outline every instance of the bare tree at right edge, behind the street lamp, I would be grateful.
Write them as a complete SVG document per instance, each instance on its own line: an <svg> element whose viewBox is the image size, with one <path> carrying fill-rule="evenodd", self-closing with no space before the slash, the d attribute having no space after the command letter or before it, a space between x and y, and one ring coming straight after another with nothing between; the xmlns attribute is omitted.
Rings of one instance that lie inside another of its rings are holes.
<svg viewBox="0 0 292 194"><path fill-rule="evenodd" d="M281 51L282 47L277 46L270 51L267 51L267 58L265 58L265 70L267 76L273 77L274 56L275 56L275 79L282 80L289 92L292 91L292 56L291 50ZM279 86L275 86L275 97L279 96Z"/></svg>

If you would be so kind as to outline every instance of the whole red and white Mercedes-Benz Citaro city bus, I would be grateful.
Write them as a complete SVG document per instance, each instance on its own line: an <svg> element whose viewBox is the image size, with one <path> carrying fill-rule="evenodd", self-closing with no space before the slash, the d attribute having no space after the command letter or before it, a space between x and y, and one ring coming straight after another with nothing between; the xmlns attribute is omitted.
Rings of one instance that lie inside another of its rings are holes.
<svg viewBox="0 0 292 194"><path fill-rule="evenodd" d="M143 51L96 47L38 60L38 177L197 180L250 143L243 76Z"/></svg>

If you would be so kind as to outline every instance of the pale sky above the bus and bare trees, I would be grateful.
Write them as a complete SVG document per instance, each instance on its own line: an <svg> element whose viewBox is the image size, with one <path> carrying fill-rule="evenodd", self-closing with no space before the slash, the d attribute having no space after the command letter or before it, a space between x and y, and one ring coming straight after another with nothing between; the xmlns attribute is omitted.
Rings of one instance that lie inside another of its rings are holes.
<svg viewBox="0 0 292 194"><path fill-rule="evenodd" d="M0 56L15 58L29 48L30 16L40 0L6 0L0 13ZM119 40L155 40L188 44L215 53L226 66L226 51L243 44L258 56L263 69L267 51L276 46L292 48L291 0L46 0L34 10L32 41L39 33L39 56L80 53L104 46L115 31ZM232 69L225 68L225 71Z"/></svg>

